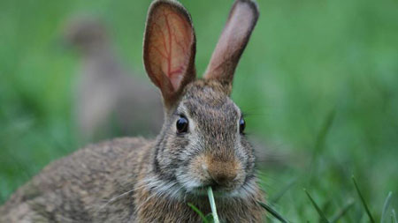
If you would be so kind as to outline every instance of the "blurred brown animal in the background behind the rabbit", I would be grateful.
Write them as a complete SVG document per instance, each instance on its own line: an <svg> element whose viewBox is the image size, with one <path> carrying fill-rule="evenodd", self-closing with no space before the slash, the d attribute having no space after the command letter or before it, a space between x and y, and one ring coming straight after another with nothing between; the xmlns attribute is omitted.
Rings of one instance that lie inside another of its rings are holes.
<svg viewBox="0 0 398 223"><path fill-rule="evenodd" d="M65 27L64 38L82 57L74 91L81 139L157 134L163 123L160 95L122 68L103 24L96 19L73 19Z"/></svg>

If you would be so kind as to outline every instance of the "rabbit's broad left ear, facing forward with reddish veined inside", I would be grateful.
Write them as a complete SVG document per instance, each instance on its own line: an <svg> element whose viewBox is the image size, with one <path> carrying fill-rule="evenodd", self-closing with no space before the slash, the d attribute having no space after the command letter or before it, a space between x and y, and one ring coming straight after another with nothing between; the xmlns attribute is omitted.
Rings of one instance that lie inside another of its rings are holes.
<svg viewBox="0 0 398 223"><path fill-rule="evenodd" d="M150 6L143 61L166 107L171 107L184 86L195 79L195 31L188 11L178 2L160 0Z"/></svg>

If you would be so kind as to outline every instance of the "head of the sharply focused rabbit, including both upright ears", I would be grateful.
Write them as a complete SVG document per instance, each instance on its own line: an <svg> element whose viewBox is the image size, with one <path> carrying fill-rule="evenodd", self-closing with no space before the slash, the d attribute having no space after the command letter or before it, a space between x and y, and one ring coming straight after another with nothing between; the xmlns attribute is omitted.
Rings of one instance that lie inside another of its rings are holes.
<svg viewBox="0 0 398 223"><path fill-rule="evenodd" d="M254 2L237 0L203 79L196 79L195 31L188 11L165 0L149 8L144 65L163 95L166 114L153 165L157 190L201 195L212 186L222 197L255 193L253 150L241 109L229 95L257 18Z"/></svg>

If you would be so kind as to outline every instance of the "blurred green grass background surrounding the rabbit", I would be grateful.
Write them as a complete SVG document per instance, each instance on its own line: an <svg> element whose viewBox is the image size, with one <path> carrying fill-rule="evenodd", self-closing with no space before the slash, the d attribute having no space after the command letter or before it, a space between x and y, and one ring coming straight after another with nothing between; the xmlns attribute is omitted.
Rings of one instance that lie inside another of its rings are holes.
<svg viewBox="0 0 398 223"><path fill-rule="evenodd" d="M194 20L202 73L233 1L181 2ZM103 19L126 68L149 81L142 67L149 3L0 1L0 204L51 160L82 146L72 112L79 56L58 46L65 20L85 13ZM393 191L389 217L398 208L398 2L258 4L233 100L249 114L249 135L281 164L259 163L270 203L292 222L317 222L306 188L326 216L352 199L341 222L368 222L355 175L375 219Z"/></svg>

